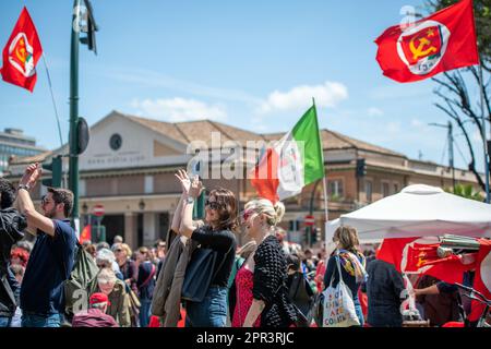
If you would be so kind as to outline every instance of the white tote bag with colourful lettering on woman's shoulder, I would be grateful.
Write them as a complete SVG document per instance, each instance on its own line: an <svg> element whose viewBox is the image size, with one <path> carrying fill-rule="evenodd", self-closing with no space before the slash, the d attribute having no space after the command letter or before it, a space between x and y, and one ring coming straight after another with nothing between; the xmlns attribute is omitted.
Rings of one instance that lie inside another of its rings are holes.
<svg viewBox="0 0 491 349"><path fill-rule="evenodd" d="M322 292L324 302L322 325L323 327L360 326L360 321L355 311L351 291L343 281L339 256L336 256L336 264L339 273L339 282L336 287L333 287L333 273L330 287Z"/></svg>

